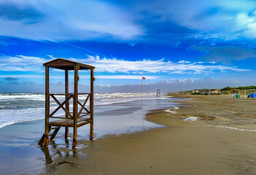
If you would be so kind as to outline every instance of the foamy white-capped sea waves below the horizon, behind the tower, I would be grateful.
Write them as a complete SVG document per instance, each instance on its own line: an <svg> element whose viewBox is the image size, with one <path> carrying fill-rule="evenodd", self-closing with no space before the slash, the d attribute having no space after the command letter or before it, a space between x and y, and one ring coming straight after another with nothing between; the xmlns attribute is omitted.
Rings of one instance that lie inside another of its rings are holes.
<svg viewBox="0 0 256 175"><path fill-rule="evenodd" d="M87 96L79 96L79 101ZM44 93L0 93L0 128L24 121L44 119ZM64 96L57 96L64 101ZM163 98L163 97L162 97ZM95 93L94 106L118 104L141 99L141 93ZM155 99L155 93L144 93L144 99ZM50 98L52 111L58 104ZM72 110L72 100L70 100ZM61 112L57 112L61 114Z"/></svg>

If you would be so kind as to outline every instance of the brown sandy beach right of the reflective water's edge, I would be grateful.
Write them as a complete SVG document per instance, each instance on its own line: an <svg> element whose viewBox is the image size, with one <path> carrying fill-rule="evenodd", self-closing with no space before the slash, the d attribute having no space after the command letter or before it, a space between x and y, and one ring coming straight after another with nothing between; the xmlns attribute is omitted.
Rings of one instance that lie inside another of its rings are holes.
<svg viewBox="0 0 256 175"><path fill-rule="evenodd" d="M176 97L195 99L179 101L179 109L169 109L175 114L147 114L166 127L80 140L88 147L58 149L66 155L44 149L53 163L42 174L256 174L255 99Z"/></svg>

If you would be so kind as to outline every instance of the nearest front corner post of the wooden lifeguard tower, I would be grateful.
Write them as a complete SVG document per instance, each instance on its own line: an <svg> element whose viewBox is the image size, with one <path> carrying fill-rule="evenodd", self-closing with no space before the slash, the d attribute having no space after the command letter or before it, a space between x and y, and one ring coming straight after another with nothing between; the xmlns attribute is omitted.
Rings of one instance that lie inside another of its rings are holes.
<svg viewBox="0 0 256 175"><path fill-rule="evenodd" d="M74 66L74 97L73 97L73 119L74 119L74 128L73 128L73 144L72 148L77 147L77 92L78 92L78 69L79 66Z"/></svg>

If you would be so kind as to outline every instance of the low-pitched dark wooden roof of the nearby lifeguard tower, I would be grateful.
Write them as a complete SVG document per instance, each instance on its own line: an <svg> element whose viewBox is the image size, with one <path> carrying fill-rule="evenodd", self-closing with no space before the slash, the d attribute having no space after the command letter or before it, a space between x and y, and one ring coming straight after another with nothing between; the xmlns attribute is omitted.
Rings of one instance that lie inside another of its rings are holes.
<svg viewBox="0 0 256 175"><path fill-rule="evenodd" d="M44 66L49 66L50 68L62 69L62 70L74 70L74 66L79 66L79 70L82 69L95 69L94 66L90 66L83 63L77 63L75 61L69 61L62 58L57 58L53 61L49 61L43 64Z"/></svg>

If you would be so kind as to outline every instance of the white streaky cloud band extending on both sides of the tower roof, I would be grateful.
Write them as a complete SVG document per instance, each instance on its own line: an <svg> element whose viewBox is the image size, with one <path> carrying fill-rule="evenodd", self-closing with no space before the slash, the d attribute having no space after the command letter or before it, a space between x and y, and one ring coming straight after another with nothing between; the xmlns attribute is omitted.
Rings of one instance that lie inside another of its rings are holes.
<svg viewBox="0 0 256 175"><path fill-rule="evenodd" d="M54 58L54 57L52 57ZM182 61L171 62L160 59L158 61L125 61L117 58L100 58L99 56L88 55L88 58L69 58L72 61L87 63L96 66L96 72L126 73L126 74L206 74L212 71L249 71L238 69L236 66L223 66L216 63L203 63ZM43 71L42 63L49 61L45 58L28 57L18 55L15 57L4 56L0 58L1 71Z"/></svg>

